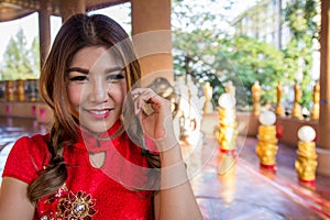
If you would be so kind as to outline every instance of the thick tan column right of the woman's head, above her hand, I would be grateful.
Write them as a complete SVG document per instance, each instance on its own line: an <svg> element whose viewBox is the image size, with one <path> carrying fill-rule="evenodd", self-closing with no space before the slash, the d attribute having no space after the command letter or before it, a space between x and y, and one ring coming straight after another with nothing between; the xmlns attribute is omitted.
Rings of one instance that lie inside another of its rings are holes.
<svg viewBox="0 0 330 220"><path fill-rule="evenodd" d="M143 85L156 77L173 82L170 0L132 0L132 34ZM147 76L147 77L146 77Z"/></svg>

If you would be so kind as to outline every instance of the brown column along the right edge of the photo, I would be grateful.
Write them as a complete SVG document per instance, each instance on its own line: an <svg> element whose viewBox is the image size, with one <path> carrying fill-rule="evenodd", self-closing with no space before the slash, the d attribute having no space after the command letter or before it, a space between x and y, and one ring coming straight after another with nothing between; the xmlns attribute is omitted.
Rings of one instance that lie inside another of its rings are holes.
<svg viewBox="0 0 330 220"><path fill-rule="evenodd" d="M320 118L317 135L318 172L330 176L330 1L321 0Z"/></svg>

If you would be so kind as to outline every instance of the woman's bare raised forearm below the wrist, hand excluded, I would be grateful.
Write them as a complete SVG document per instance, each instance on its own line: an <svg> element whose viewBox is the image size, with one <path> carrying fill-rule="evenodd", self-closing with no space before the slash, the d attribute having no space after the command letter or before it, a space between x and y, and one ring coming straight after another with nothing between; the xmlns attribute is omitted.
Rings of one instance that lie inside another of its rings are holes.
<svg viewBox="0 0 330 220"><path fill-rule="evenodd" d="M155 198L156 219L200 220L179 145L161 153L161 190Z"/></svg>

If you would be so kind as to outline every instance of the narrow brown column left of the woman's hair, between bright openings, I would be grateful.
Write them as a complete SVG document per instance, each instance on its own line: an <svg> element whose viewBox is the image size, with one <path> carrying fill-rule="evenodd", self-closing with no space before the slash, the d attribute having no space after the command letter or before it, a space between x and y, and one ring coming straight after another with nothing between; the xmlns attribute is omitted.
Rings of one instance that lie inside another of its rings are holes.
<svg viewBox="0 0 330 220"><path fill-rule="evenodd" d="M51 47L51 12L47 10L47 0L40 0L38 11L38 40L41 68L48 55Z"/></svg>

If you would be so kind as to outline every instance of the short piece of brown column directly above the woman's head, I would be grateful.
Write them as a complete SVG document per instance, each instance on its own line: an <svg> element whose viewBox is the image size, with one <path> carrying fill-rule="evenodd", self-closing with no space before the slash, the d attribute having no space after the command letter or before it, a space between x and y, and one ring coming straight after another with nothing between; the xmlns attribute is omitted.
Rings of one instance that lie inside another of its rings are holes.
<svg viewBox="0 0 330 220"><path fill-rule="evenodd" d="M85 0L61 0L61 15L63 22L74 14L85 13L85 12L86 12Z"/></svg>

